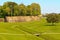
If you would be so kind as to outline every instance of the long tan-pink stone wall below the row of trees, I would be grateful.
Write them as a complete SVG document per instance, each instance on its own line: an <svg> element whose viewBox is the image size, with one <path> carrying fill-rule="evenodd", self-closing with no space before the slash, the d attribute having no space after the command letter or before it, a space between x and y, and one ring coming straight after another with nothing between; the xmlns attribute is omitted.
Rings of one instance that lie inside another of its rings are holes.
<svg viewBox="0 0 60 40"><path fill-rule="evenodd" d="M6 17L7 22L26 22L26 21L36 21L40 20L40 16L13 16Z"/></svg>

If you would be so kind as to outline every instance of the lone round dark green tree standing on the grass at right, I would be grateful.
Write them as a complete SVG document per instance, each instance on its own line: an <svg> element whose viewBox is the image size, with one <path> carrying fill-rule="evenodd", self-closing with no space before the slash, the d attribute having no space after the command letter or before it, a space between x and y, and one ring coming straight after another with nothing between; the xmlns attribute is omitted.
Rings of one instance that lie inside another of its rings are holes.
<svg viewBox="0 0 60 40"><path fill-rule="evenodd" d="M59 22L59 15L56 13L47 14L46 17L47 22L52 23L52 25Z"/></svg>

